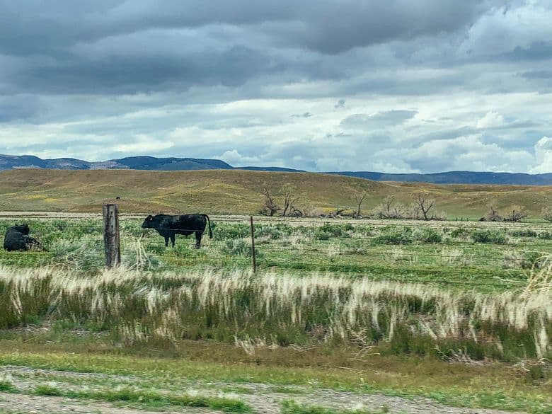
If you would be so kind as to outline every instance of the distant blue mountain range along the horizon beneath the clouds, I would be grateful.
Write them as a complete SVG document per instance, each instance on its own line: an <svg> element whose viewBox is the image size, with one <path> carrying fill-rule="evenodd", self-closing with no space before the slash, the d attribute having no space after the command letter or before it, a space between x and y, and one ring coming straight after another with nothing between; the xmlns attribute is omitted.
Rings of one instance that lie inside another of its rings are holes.
<svg viewBox="0 0 552 414"><path fill-rule="evenodd" d="M0 155L0 171L13 168L49 168L58 170L132 169L156 171L184 170L253 170L304 172L280 167L234 167L217 159L156 158L154 156L130 156L108 161L83 161L72 158L40 159L38 156ZM552 185L552 173L491 173L473 171L449 171L431 174L388 174L371 171L328 171L328 174L366 178L374 181L403 181L434 184L502 184L502 185Z"/></svg>

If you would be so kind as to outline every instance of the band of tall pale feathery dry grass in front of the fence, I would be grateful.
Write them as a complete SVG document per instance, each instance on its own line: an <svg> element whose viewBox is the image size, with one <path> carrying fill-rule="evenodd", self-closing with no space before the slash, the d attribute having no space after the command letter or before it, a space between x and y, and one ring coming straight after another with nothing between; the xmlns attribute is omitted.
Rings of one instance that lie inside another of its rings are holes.
<svg viewBox="0 0 552 414"><path fill-rule="evenodd" d="M391 352L439 346L439 352L463 348L473 358L542 358L552 350L551 263L534 272L521 294L317 273L119 268L84 277L0 268L0 328L52 318L93 323L122 343L214 338L286 346L362 337L388 343Z"/></svg>

